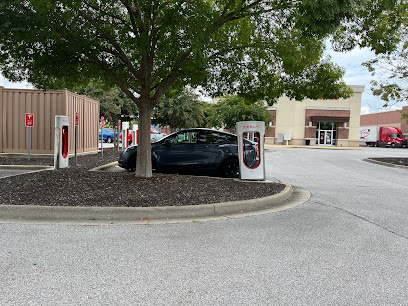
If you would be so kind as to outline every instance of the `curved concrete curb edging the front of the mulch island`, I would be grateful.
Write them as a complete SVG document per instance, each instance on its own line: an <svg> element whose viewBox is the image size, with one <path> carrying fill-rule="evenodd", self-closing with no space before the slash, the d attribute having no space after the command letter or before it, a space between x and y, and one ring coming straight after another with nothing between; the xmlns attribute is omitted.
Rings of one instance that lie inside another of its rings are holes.
<svg viewBox="0 0 408 306"><path fill-rule="evenodd" d="M279 194L216 204L164 207L55 207L0 205L0 223L163 224L225 220L290 209L308 201L310 192L286 185Z"/></svg>

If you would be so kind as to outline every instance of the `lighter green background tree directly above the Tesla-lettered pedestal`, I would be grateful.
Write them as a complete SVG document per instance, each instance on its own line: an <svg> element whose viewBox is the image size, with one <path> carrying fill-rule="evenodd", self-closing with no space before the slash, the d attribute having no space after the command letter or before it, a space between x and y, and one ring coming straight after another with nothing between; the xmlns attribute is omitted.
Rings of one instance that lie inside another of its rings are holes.
<svg viewBox="0 0 408 306"><path fill-rule="evenodd" d="M226 96L211 106L209 124L217 128L234 129L238 121L264 121L272 119L267 105L261 100L249 102L239 96Z"/></svg>

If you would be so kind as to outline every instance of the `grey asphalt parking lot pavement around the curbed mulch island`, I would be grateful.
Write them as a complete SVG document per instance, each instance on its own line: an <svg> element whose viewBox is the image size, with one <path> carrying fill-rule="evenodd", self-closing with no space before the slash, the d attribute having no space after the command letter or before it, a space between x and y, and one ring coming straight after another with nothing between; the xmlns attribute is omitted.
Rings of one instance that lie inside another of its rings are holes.
<svg viewBox="0 0 408 306"><path fill-rule="evenodd" d="M241 219L0 224L1 305L406 305L408 149L268 148L312 198ZM103 192L103 189L101 189Z"/></svg>

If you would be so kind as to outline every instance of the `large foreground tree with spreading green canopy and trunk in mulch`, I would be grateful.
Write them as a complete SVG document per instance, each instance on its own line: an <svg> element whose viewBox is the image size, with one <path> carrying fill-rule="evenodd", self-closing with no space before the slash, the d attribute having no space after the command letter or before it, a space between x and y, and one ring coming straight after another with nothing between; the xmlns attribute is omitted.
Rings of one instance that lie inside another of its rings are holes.
<svg viewBox="0 0 408 306"><path fill-rule="evenodd" d="M240 94L270 104L282 94L347 97L352 92L342 69L322 59L324 41L337 33L337 48L348 48L344 37L359 34L358 43L392 48L400 2L2 1L0 69L12 81L44 89L90 79L119 86L139 110L136 175L150 177L151 114L166 92L201 85L214 96ZM367 39L370 33L375 40Z"/></svg>

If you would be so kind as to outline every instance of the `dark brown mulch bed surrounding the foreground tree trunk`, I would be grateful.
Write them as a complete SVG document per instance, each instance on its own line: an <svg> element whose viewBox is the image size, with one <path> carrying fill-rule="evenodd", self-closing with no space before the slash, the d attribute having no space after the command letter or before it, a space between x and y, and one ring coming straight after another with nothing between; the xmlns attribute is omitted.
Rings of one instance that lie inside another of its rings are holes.
<svg viewBox="0 0 408 306"><path fill-rule="evenodd" d="M0 205L151 207L248 200L279 193L279 183L241 182L202 176L155 173L137 178L129 172L90 172L116 161L117 149L78 156L78 166L0 179ZM0 165L53 165L47 159L0 158Z"/></svg>

